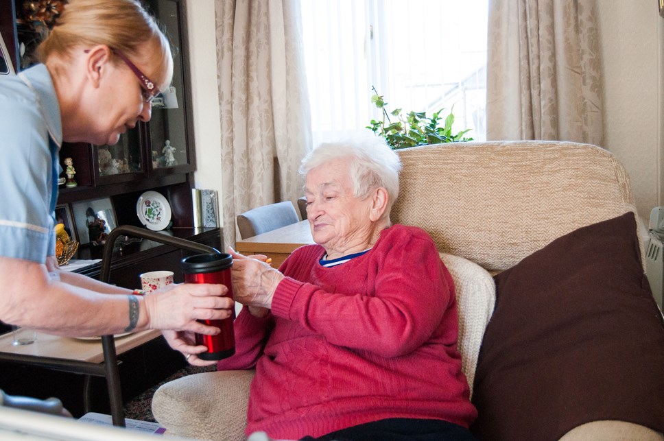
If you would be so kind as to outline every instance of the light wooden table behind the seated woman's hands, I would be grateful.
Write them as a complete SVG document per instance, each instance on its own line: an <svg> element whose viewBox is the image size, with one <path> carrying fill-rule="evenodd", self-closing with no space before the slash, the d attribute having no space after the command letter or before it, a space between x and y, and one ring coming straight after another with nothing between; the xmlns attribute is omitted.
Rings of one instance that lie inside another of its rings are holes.
<svg viewBox="0 0 664 441"><path fill-rule="evenodd" d="M272 259L272 266L279 265L300 246L314 243L309 221L303 220L262 235L235 242L235 250L241 254L265 254Z"/></svg>

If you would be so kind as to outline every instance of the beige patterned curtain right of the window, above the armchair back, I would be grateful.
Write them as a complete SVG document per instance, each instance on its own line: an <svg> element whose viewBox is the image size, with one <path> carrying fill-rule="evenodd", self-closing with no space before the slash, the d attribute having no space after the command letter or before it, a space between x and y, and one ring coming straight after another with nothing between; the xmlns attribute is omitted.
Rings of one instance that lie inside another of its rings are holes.
<svg viewBox="0 0 664 441"><path fill-rule="evenodd" d="M490 0L488 140L602 145L596 0Z"/></svg>

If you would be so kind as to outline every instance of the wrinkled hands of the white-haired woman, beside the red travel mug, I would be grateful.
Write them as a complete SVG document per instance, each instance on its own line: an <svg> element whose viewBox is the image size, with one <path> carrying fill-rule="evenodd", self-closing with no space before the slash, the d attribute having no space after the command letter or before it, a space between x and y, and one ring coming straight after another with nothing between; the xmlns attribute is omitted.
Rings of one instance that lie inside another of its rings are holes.
<svg viewBox="0 0 664 441"><path fill-rule="evenodd" d="M265 263L264 256L243 256L230 247L228 253L233 256L233 298L247 305L252 315L263 317L272 307L272 296L283 274Z"/></svg>

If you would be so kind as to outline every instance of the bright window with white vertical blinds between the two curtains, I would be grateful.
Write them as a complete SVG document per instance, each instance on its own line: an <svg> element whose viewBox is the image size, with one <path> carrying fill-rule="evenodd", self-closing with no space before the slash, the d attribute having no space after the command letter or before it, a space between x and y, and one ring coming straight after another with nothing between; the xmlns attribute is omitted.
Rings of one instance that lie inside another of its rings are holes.
<svg viewBox="0 0 664 441"><path fill-rule="evenodd" d="M486 139L488 0L303 0L314 145L366 131L388 110L453 110Z"/></svg>

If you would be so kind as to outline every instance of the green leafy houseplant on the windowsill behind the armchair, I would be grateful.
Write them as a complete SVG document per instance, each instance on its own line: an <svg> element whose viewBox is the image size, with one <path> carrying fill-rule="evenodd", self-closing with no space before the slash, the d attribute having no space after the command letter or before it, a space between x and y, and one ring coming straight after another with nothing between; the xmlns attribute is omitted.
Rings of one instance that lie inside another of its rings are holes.
<svg viewBox="0 0 664 441"><path fill-rule="evenodd" d="M404 115L401 108L388 112L388 103L385 102L382 95L378 95L375 88L373 88L373 91L375 95L371 97L371 102L383 111L383 119L381 121L372 119L370 125L366 128L377 136L383 136L392 149L414 147L415 145L473 141L472 138L464 136L471 129L461 130L456 134L452 133L452 124L454 123L452 111L444 119L441 116L444 108L434 112L431 117L427 117L426 112L408 112ZM390 115L394 117L394 122L390 119Z"/></svg>

